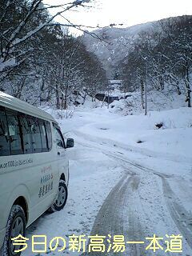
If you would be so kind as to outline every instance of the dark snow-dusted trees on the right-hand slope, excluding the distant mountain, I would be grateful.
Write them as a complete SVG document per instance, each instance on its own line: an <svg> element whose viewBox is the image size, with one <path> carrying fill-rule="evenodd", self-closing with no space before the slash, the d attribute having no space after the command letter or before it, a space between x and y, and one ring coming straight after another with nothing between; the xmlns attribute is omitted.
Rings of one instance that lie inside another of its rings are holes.
<svg viewBox="0 0 192 256"><path fill-rule="evenodd" d="M138 40L119 62L126 91L139 90L144 108L144 91L185 95L191 106L192 16L166 18L154 30L138 34Z"/></svg>

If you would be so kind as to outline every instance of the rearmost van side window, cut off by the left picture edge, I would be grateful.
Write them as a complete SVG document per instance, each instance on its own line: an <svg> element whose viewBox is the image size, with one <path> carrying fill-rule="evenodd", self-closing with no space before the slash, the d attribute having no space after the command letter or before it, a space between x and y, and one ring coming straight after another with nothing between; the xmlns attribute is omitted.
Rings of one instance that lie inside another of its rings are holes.
<svg viewBox="0 0 192 256"><path fill-rule="evenodd" d="M2 155L10 155L10 136L5 110L0 107L0 156Z"/></svg>

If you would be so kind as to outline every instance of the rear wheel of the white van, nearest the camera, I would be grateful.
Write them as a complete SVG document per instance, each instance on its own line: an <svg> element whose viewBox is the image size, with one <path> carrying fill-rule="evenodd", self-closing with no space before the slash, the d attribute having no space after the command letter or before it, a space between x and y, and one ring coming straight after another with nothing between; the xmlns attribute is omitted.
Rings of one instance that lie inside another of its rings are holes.
<svg viewBox="0 0 192 256"><path fill-rule="evenodd" d="M25 237L26 234L26 217L21 206L14 205L10 210L10 215L6 224L6 236L2 246L3 255L19 256L21 252L16 253L15 250L20 250L22 246L14 246L11 238L16 238L21 234Z"/></svg>

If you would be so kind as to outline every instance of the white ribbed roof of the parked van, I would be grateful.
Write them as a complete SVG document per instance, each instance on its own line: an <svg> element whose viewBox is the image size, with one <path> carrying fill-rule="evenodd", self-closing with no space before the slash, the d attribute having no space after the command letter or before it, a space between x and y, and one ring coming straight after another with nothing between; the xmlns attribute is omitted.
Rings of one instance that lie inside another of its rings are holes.
<svg viewBox="0 0 192 256"><path fill-rule="evenodd" d="M29 103L23 102L20 99L14 98L13 96L10 96L9 94L5 94L1 91L0 91L0 106L5 106L7 108L10 108L11 110L18 110L22 113L30 114L37 118L42 118L42 119L56 122L52 117L52 115L46 113L45 111L40 110L37 107L30 105Z"/></svg>

